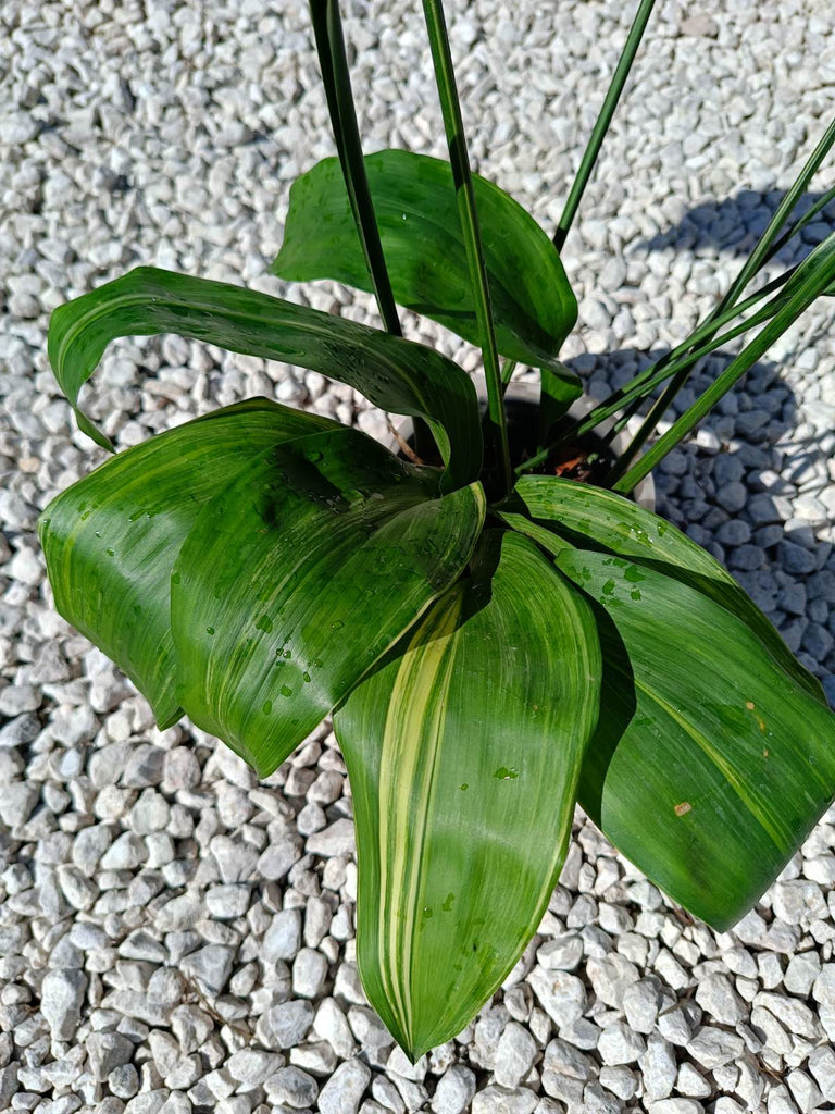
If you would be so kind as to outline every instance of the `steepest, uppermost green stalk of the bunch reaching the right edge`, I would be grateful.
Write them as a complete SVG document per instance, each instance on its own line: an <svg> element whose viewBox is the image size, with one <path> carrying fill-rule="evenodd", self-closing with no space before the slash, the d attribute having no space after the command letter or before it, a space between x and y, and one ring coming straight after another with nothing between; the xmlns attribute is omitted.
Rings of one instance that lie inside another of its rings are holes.
<svg viewBox="0 0 835 1114"><path fill-rule="evenodd" d="M808 188L812 178L819 169L821 164L828 155L832 145L834 143L835 143L835 119L831 121L828 128L822 136L817 146L809 155L809 157L806 159L803 169L795 178L794 183L792 184L792 187L786 192L786 195L784 196L783 201L777 206L774 216L768 222L768 227L759 237L759 241L757 242L757 245L755 246L752 254L748 256L745 266L741 268L739 274L730 284L730 289L721 299L717 307L706 319L705 321L706 325L711 324L719 316L719 314L721 314L723 311L725 311L729 305L734 305L736 300L743 293L743 291L748 285L754 275L757 273L757 271L759 271L760 267L763 267L768 262L768 260L773 256L774 252L777 251L778 246L783 246L783 244L786 243L787 237L784 236L783 240L779 241L778 245L777 243L778 233L783 227L783 225L788 219L788 217L794 212L800 197L806 193L806 189ZM794 226L794 232L797 232L800 227L803 227L803 223L798 221ZM794 232L790 231L789 234L793 235ZM687 368L686 370L679 372L675 377L675 379L672 379L664 389L658 400L652 404L651 410L645 418L644 424L636 433L635 438L629 444L629 448L623 453L621 459L618 461L616 468L612 470L612 475L609 477L610 479L615 478L616 472L622 473L627 465L635 459L635 457L640 451L642 446L652 436L652 433L656 430L656 427L658 426L658 422L666 413L669 404L672 402L675 397L678 394L678 392L681 390L681 388L689 379L690 371L691 368Z"/></svg>

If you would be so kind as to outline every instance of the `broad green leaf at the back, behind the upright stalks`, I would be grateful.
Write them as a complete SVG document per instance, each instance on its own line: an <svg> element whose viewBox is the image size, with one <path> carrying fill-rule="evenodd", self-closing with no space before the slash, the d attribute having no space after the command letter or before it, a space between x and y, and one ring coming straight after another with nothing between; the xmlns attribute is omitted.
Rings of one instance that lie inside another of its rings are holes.
<svg viewBox="0 0 835 1114"><path fill-rule="evenodd" d="M450 164L381 150L365 156L365 167L395 299L479 344ZM577 321L577 299L557 250L504 190L478 175L473 186L499 352L552 369L579 394L580 381L558 359ZM271 270L282 278L334 278L370 290L337 159L323 159L294 183Z"/></svg>

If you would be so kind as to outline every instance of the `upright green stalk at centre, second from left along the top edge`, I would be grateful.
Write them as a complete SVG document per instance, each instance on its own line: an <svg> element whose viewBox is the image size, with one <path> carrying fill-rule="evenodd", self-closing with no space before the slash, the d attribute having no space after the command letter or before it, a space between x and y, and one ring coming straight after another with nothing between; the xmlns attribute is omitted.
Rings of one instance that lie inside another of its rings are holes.
<svg viewBox="0 0 835 1114"><path fill-rule="evenodd" d="M479 325L479 340L484 363L484 378L488 390L488 420L491 427L492 441L499 456L500 479L498 496L505 496L512 486L510 470L510 449L508 447L508 422L504 413L502 377L499 369L499 351L495 346L493 314L490 307L490 289L488 286L484 252L481 244L479 218L475 212L475 194L470 170L470 157L466 150L466 135L461 116L461 102L455 85L455 72L452 66L450 40L446 33L446 22L443 16L441 0L423 0L423 12L426 19L432 61L435 70L435 85L441 101L446 146L450 152L452 176L455 183L461 231L466 251L466 262L470 268L470 280L473 286L475 302L475 319Z"/></svg>

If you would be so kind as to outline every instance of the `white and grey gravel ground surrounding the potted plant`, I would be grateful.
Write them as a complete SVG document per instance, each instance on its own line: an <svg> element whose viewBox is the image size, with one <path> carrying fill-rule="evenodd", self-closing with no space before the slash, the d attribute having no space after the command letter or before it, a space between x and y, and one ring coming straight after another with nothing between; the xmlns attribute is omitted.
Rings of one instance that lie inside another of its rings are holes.
<svg viewBox="0 0 835 1114"><path fill-rule="evenodd" d="M367 149L441 154L419 6L345 7ZM724 935L578 813L503 991L412 1067L357 979L351 797L327 726L258 783L202 732L157 731L50 607L36 518L100 453L48 370L48 313L138 263L283 290L264 272L289 183L332 153L304 8L0 0L0 1110L833 1110L835 810ZM595 397L714 304L832 109L831 4L659 8L566 252L581 299L568 354ZM628 9L450 6L473 154L546 226ZM370 315L327 284L291 296ZM656 478L659 509L831 697L834 354L828 303ZM256 393L385 433L321 375L175 338L114 345L92 409L126 447Z"/></svg>

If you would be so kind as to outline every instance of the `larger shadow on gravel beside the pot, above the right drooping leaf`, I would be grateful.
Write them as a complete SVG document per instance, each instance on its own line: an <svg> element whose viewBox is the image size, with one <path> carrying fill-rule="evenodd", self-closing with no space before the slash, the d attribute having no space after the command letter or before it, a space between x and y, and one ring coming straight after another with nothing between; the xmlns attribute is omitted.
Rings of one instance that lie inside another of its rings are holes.
<svg viewBox="0 0 835 1114"><path fill-rule="evenodd" d="M619 350L567 362L602 400L662 354ZM704 361L668 420L731 359ZM818 534L832 526L832 495L822 497L833 480L824 439L807 430L780 368L755 364L695 440L656 468L656 509L733 573L803 664L824 678L835 674L835 551ZM826 687L835 702L835 681Z"/></svg>

